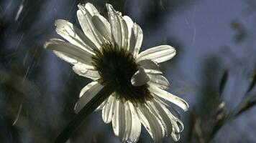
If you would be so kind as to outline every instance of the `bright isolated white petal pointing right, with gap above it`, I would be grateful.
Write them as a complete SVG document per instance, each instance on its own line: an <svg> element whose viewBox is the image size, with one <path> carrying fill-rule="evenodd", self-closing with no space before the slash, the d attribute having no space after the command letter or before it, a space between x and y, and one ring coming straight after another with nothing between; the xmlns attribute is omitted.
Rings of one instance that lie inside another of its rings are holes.
<svg viewBox="0 0 256 143"><path fill-rule="evenodd" d="M137 61L142 61L144 59L150 59L156 61L157 63L168 61L175 56L176 51L172 46L169 45L161 45L155 46L153 48L142 51L137 56Z"/></svg>

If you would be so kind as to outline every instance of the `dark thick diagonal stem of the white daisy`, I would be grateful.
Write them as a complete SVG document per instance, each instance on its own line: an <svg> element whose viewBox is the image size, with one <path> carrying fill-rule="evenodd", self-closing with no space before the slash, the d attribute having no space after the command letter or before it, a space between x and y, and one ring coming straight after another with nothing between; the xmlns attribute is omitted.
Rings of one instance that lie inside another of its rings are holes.
<svg viewBox="0 0 256 143"><path fill-rule="evenodd" d="M98 94L96 94L96 96L93 97L93 99L91 99L91 101L88 102L80 112L78 112L76 117L68 124L68 126L63 129L63 132L58 135L54 143L65 143L84 119L86 119L89 114L99 107L99 105L114 92L116 86L118 86L116 82L109 82L106 84L103 89L101 89L101 91L99 91Z"/></svg>

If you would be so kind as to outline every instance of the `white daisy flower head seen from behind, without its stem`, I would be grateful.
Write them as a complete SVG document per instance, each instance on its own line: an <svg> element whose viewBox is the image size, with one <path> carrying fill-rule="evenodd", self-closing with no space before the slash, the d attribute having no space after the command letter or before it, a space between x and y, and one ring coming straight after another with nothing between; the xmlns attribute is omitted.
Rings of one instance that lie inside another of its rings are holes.
<svg viewBox="0 0 256 143"><path fill-rule="evenodd" d="M50 39L45 48L73 64L73 71L93 80L81 90L75 112L79 112L109 81L118 86L97 109L105 123L112 122L122 142L137 142L141 124L154 142L163 137L180 139L183 123L168 109L171 102L184 111L188 104L165 89L169 82L158 63L175 56L172 46L161 45L142 51L142 29L129 16L122 16L106 4L109 21L92 5L78 5L83 31L63 19L55 21L56 31L67 41Z"/></svg>

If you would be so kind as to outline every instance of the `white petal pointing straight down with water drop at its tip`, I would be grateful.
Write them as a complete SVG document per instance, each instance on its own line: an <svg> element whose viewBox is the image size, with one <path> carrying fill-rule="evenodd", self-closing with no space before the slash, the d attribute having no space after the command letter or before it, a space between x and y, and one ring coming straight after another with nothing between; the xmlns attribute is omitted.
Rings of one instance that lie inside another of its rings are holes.
<svg viewBox="0 0 256 143"><path fill-rule="evenodd" d="M122 142L137 142L140 137L141 132L141 123L140 119L137 117L135 112L134 105L131 102L126 102L125 107L125 119L126 119L126 128L125 128L125 139Z"/></svg>

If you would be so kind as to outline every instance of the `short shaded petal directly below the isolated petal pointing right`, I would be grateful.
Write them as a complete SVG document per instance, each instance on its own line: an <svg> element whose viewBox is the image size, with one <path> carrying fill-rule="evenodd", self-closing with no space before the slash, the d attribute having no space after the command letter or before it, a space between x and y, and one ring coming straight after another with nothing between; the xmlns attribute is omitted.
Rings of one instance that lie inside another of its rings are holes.
<svg viewBox="0 0 256 143"><path fill-rule="evenodd" d="M155 63L154 61L145 59L145 60L139 61L137 64L142 66L143 69L145 69L146 73L150 73L150 74L163 74L163 72L160 71L160 68L157 65L157 63Z"/></svg>

